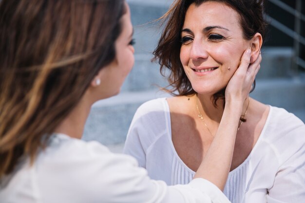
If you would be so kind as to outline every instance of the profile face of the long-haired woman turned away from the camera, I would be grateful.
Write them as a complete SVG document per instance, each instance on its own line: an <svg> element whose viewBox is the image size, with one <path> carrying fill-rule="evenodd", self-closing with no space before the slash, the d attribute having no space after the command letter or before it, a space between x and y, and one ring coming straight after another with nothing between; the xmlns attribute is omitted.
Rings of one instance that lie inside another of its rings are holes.
<svg viewBox="0 0 305 203"><path fill-rule="evenodd" d="M130 73L134 63L133 25L130 9L125 3L127 12L121 18L122 31L115 41L115 59L101 69L102 97L107 98L120 92L121 86Z"/></svg>

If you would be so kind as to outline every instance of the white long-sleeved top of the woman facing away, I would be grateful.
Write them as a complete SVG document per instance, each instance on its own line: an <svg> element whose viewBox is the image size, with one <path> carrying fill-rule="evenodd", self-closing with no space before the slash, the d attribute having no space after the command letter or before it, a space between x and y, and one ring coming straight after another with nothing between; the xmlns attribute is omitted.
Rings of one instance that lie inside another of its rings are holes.
<svg viewBox="0 0 305 203"><path fill-rule="evenodd" d="M133 157L111 153L97 142L64 134L52 137L33 166L0 179L1 203L229 203L204 179L167 186L153 181Z"/></svg>

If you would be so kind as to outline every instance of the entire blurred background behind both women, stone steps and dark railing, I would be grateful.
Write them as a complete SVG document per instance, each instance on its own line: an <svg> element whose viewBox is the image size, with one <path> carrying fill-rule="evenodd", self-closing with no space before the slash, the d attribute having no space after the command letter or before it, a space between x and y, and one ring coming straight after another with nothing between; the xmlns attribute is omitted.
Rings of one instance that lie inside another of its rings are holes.
<svg viewBox="0 0 305 203"><path fill-rule="evenodd" d="M136 109L144 102L170 95L160 91L167 81L152 63L161 17L173 0L127 0L134 26L135 64L121 93L93 106L84 140L97 140L121 152ZM302 2L303 1L303 2ZM261 70L251 97L285 108L305 122L305 1L267 0L269 35L263 47Z"/></svg>

